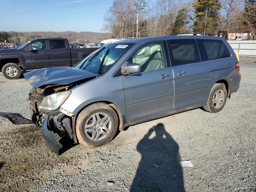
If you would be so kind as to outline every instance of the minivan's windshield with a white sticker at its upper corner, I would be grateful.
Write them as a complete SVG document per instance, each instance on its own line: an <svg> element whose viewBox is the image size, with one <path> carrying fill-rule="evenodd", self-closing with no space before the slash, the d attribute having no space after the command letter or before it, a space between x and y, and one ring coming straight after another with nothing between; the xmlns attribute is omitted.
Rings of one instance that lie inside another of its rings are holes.
<svg viewBox="0 0 256 192"><path fill-rule="evenodd" d="M131 46L132 44L108 44L84 58L74 67L104 74Z"/></svg>

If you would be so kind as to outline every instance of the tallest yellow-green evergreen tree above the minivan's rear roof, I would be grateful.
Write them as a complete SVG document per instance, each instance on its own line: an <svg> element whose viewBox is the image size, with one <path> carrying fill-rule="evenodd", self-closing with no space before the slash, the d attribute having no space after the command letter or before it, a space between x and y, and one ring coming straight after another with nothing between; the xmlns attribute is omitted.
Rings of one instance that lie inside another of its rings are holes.
<svg viewBox="0 0 256 192"><path fill-rule="evenodd" d="M194 8L194 32L216 33L220 10L219 0L196 0Z"/></svg>

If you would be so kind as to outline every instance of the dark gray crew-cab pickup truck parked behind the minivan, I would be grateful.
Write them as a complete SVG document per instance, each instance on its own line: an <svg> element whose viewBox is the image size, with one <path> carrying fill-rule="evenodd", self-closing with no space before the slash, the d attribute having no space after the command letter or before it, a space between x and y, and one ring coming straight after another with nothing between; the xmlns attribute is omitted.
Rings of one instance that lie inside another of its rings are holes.
<svg viewBox="0 0 256 192"><path fill-rule="evenodd" d="M0 72L8 79L20 77L21 70L73 66L97 48L70 49L62 38L33 39L18 49L0 51Z"/></svg>

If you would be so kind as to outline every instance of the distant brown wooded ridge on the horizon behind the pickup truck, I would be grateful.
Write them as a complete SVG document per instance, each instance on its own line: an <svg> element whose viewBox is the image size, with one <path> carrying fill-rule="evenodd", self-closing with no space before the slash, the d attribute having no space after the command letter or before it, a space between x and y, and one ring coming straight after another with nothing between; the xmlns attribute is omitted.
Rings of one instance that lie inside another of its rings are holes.
<svg viewBox="0 0 256 192"><path fill-rule="evenodd" d="M0 42L25 43L35 38L66 38L71 43L90 42L98 43L111 38L110 33L96 32L0 32Z"/></svg>

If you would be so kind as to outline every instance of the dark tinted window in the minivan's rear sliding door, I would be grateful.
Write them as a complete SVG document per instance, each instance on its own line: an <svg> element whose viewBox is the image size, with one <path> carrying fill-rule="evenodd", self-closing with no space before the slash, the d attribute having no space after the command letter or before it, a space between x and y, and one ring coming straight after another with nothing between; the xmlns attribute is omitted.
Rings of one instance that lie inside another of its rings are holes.
<svg viewBox="0 0 256 192"><path fill-rule="evenodd" d="M169 40L174 66L200 62L199 52L194 39Z"/></svg>

